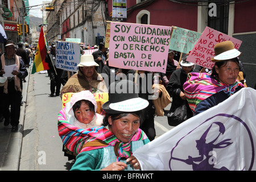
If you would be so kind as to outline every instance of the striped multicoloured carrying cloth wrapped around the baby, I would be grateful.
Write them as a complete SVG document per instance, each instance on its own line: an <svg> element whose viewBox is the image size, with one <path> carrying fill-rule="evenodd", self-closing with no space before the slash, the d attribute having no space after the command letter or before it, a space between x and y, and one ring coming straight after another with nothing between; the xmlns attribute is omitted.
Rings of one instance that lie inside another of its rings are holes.
<svg viewBox="0 0 256 182"><path fill-rule="evenodd" d="M68 150L72 151L75 155L84 151L90 151L97 148L114 146L116 148L117 161L121 158L129 158L132 155L130 151L130 142L123 143L119 141L115 135L105 127L93 127L90 129L79 129L78 127L70 125L65 118L63 110L58 114L58 131L63 144ZM106 146L88 146L83 147L85 143L95 140L105 142ZM131 141L147 139L147 135L141 129L138 129L134 134Z"/></svg>

